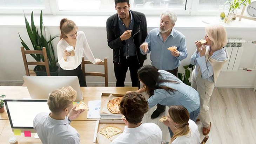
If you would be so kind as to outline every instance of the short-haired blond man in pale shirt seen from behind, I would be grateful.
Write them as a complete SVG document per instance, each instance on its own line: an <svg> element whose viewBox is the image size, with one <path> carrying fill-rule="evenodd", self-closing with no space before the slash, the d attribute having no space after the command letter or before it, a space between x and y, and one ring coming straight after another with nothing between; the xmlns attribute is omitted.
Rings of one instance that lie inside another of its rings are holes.
<svg viewBox="0 0 256 144"><path fill-rule="evenodd" d="M42 112L34 118L34 129L43 144L79 144L79 133L69 123L82 110L75 110L76 91L70 87L54 90L48 97L50 114Z"/></svg>

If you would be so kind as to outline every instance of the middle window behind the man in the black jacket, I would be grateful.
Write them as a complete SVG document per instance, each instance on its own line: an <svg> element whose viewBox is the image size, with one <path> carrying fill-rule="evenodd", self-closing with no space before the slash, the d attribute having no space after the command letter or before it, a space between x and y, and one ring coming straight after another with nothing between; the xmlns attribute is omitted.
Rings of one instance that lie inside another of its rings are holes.
<svg viewBox="0 0 256 144"><path fill-rule="evenodd" d="M186 13L187 0L130 0L131 9L145 14L159 15L165 9ZM57 0L60 14L80 11L80 14L109 15L115 13L114 0ZM82 12L82 13L81 13Z"/></svg>

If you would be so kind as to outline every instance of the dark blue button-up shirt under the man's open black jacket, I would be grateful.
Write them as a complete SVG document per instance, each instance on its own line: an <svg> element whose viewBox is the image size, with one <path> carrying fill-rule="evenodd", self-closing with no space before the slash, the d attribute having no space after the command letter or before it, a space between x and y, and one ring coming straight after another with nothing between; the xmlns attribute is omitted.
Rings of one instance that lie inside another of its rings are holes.
<svg viewBox="0 0 256 144"><path fill-rule="evenodd" d="M130 12L130 10L129 10L129 13L130 13L130 16L131 16L131 21L130 21L130 25L129 25L128 28L126 28L123 21L118 16L118 18L119 18L118 26L119 26L119 29L120 29L120 34L122 35L124 33L124 31L126 31L126 30L132 30L132 36L128 40L125 40L126 44L123 46L123 51L122 51L123 56L135 56L136 55L136 47L135 47L135 44L133 42L134 19L133 19L133 15Z"/></svg>

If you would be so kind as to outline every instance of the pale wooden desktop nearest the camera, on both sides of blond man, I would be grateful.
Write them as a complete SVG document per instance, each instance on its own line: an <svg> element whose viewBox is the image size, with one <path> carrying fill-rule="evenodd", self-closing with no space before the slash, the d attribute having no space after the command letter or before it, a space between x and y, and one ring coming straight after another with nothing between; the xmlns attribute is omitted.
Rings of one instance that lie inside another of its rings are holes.
<svg viewBox="0 0 256 144"><path fill-rule="evenodd" d="M2 123L4 123L4 128L1 130ZM80 144L94 144L93 136L96 121L72 121L70 123L80 135ZM2 131L0 135L0 144L8 144L8 140L11 136L14 136L12 132L11 125L8 120L0 120L0 130ZM41 144L39 138L34 138L35 133L31 133L31 137L24 137L24 133L21 136L16 136L18 138L19 144Z"/></svg>

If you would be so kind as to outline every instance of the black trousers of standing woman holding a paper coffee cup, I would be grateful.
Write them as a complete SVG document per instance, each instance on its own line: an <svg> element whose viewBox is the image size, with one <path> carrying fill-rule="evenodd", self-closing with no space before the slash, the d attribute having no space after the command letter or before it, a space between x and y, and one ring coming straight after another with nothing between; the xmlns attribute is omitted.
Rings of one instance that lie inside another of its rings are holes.
<svg viewBox="0 0 256 144"><path fill-rule="evenodd" d="M76 69L73 70L64 70L60 67L60 72L58 76L77 76L80 87L87 87L85 81L85 74L83 74L81 65L79 65Z"/></svg>

